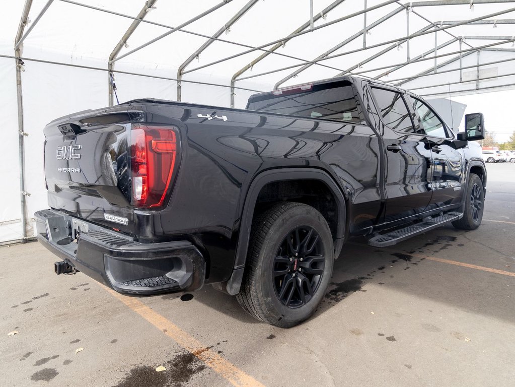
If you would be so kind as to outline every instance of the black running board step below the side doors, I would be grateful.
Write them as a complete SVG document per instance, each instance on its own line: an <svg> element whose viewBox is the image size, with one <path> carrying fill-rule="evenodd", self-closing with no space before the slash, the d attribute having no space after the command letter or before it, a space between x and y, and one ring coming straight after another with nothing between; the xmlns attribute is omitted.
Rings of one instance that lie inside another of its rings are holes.
<svg viewBox="0 0 515 387"><path fill-rule="evenodd" d="M395 231L374 235L374 237L368 240L368 244L374 247L392 246L415 235L440 227L447 222L457 221L461 219L462 216L463 214L461 212L448 212Z"/></svg>

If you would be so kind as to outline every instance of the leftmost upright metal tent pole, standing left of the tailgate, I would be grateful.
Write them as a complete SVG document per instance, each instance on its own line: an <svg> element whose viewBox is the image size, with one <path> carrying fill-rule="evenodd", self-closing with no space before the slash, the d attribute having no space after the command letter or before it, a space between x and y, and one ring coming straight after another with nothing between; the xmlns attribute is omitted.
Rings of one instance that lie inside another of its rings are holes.
<svg viewBox="0 0 515 387"><path fill-rule="evenodd" d="M30 7L32 6L32 0L25 0L25 5L23 7L22 18L20 20L20 24L18 26L18 32L16 33L16 38L14 39L14 57L15 65L16 65L16 100L18 102L18 147L19 147L19 164L20 164L20 206L21 206L21 220L22 220L22 242L25 242L27 238L27 203L25 200L25 196L27 192L25 191L25 136L27 133L23 130L23 93L22 93L22 67L23 60L22 51L23 45L18 44L25 39L28 35L23 36L23 31L27 26L28 16L30 12ZM39 20L39 19L38 19Z"/></svg>

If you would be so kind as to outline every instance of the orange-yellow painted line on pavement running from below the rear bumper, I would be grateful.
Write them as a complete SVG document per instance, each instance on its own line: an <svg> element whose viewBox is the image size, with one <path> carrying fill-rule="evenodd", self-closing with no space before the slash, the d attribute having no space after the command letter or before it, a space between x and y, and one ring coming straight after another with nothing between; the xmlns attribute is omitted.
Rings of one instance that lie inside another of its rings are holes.
<svg viewBox="0 0 515 387"><path fill-rule="evenodd" d="M211 367L220 376L227 379L232 385L238 387L264 387L259 381L255 380L250 375L243 372L234 364L218 355L211 348L202 344L197 339L193 338L190 334L183 331L174 323L157 313L152 308L146 306L136 297L128 297L115 292L114 290L102 285L109 293L111 293L118 300L122 301L126 306L134 312L142 316L150 324L161 330L169 338L175 340L179 345L183 346L186 350L190 351L199 360L203 361L206 365Z"/></svg>

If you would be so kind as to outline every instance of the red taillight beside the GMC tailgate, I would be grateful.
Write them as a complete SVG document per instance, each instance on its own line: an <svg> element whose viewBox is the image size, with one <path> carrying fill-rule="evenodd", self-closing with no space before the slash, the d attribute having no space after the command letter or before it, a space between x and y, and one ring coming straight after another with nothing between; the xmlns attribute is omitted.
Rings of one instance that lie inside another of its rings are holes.
<svg viewBox="0 0 515 387"><path fill-rule="evenodd" d="M174 173L177 134L171 128L133 125L130 137L132 204L159 207Z"/></svg>

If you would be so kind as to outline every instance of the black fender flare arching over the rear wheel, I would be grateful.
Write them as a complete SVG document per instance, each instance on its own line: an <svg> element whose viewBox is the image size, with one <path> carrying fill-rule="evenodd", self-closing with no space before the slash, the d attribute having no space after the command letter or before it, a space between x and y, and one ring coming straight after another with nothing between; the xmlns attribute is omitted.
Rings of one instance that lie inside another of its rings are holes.
<svg viewBox="0 0 515 387"><path fill-rule="evenodd" d="M312 168L287 168L287 169L273 169L260 173L257 175L250 184L245 204L243 207L239 233L238 243L236 246L236 256L234 260L233 272L227 281L226 291L231 295L239 293L239 288L242 284L243 272L245 263L247 261L247 250L250 241L250 231L252 228L252 217L258 195L261 189L266 184L274 181L284 180L318 180L321 181L332 192L336 204L338 206L338 222L335 238L335 251L334 257L337 258L341 247L344 242L346 232L346 197L342 190L337 186L333 178L325 171L312 169Z"/></svg>

